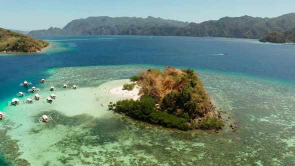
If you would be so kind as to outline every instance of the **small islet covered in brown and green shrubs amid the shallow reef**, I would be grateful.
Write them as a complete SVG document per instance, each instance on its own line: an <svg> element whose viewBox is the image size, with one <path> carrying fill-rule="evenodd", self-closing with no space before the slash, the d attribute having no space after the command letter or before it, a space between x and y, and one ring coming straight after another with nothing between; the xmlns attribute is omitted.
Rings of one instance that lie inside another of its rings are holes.
<svg viewBox="0 0 295 166"><path fill-rule="evenodd" d="M201 80L192 69L178 70L167 66L162 72L153 68L130 79L140 86L140 98L110 102L110 110L181 130L218 130L224 126Z"/></svg>

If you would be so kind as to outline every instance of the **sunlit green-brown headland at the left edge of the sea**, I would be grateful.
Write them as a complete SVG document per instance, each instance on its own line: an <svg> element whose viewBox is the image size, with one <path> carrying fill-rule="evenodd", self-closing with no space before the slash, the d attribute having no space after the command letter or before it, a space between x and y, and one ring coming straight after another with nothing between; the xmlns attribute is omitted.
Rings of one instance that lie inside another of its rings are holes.
<svg viewBox="0 0 295 166"><path fill-rule="evenodd" d="M0 28L0 52L39 52L49 42Z"/></svg>

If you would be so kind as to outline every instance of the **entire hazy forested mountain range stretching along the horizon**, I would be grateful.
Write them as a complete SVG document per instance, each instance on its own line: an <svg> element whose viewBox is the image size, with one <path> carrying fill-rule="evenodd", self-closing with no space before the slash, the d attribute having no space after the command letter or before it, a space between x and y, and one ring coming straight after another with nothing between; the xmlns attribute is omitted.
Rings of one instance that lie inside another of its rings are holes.
<svg viewBox="0 0 295 166"><path fill-rule="evenodd" d="M201 23L151 16L147 18L98 16L72 20L62 29L50 27L47 30L33 30L28 35L121 34L261 38L271 31L284 31L292 27L295 27L295 13L274 18L247 15L223 17Z"/></svg>

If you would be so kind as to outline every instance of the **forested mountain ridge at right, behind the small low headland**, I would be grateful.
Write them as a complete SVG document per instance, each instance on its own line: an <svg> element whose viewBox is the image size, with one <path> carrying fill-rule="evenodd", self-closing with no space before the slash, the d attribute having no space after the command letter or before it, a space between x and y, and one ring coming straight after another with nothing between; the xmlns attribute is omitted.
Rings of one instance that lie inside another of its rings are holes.
<svg viewBox="0 0 295 166"><path fill-rule="evenodd" d="M189 23L179 35L236 38L261 38L271 31L283 31L295 26L295 13L274 18L252 16L223 17L201 23Z"/></svg>

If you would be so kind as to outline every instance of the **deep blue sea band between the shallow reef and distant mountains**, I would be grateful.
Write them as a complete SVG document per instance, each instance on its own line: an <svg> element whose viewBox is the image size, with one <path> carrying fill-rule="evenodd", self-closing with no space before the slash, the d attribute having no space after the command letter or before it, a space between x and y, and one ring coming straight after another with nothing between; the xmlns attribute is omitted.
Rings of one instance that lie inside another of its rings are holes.
<svg viewBox="0 0 295 166"><path fill-rule="evenodd" d="M0 98L23 79L36 82L54 67L155 64L240 72L295 81L294 44L178 36L48 36L68 50L0 56ZM219 55L228 53L228 55ZM40 55L41 54L41 55Z"/></svg>

